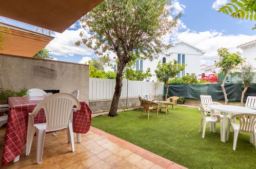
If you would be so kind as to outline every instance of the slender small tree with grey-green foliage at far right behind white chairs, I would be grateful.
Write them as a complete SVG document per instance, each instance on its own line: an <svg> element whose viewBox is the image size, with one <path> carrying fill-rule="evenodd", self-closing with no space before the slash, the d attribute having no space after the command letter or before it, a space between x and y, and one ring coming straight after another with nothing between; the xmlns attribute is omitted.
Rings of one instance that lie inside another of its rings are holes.
<svg viewBox="0 0 256 169"><path fill-rule="evenodd" d="M244 94L247 89L252 85L253 77L254 77L254 68L252 65L247 64L242 66L241 78L243 80L244 90L241 96L241 106L244 106Z"/></svg>

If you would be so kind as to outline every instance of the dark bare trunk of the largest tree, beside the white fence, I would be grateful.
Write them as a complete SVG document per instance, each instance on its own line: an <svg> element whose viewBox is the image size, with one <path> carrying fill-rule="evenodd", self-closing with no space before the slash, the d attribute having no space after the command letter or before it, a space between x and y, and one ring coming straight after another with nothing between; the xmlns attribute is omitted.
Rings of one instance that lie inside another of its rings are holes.
<svg viewBox="0 0 256 169"><path fill-rule="evenodd" d="M119 103L119 98L121 96L121 91L122 91L122 76L123 76L123 71L125 68L125 64L121 64L121 62L117 65L117 72L116 72L116 77L115 77L115 91L113 95L113 99L111 102L110 110L109 110L109 116L114 117L117 116L117 108L118 108L118 103Z"/></svg>

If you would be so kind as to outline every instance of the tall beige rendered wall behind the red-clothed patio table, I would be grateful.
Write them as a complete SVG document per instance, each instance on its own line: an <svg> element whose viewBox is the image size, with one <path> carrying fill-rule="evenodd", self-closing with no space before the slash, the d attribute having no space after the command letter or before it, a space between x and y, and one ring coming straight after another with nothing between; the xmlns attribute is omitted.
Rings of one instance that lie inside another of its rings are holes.
<svg viewBox="0 0 256 169"><path fill-rule="evenodd" d="M40 71L43 72L40 72ZM48 73L47 73L48 72ZM80 100L89 102L89 66L71 62L0 54L0 88L79 90Z"/></svg>

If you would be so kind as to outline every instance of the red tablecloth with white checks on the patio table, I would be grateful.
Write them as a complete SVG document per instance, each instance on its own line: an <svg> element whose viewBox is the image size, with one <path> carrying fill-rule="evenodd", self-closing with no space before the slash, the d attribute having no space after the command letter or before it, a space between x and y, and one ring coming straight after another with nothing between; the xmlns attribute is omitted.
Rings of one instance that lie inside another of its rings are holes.
<svg viewBox="0 0 256 169"><path fill-rule="evenodd" d="M2 166L22 154L27 140L28 113L31 113L41 100L29 100L30 97L10 97L8 122L2 157ZM87 133L90 129L91 114L88 104L79 101L81 109L73 114L73 132ZM34 117L34 123L46 122L44 110Z"/></svg>

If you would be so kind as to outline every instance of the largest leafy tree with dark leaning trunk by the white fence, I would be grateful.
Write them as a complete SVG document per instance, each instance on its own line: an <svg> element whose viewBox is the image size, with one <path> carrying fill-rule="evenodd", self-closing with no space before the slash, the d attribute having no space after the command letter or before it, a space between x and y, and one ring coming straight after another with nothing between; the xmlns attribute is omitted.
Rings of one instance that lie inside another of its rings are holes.
<svg viewBox="0 0 256 169"><path fill-rule="evenodd" d="M77 41L96 54L111 51L116 54L118 65L116 85L109 116L117 115L122 90L122 76L126 65L134 58L157 58L168 48L164 36L172 33L178 24L178 16L170 16L170 0L105 0L81 18L82 27L88 29L89 38Z"/></svg>

